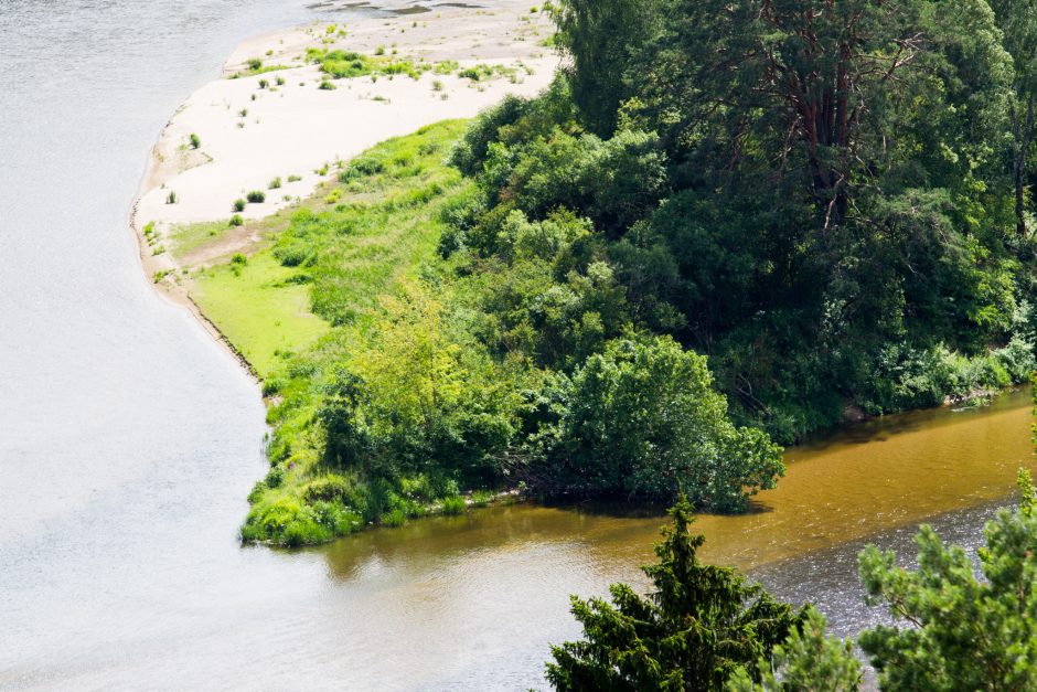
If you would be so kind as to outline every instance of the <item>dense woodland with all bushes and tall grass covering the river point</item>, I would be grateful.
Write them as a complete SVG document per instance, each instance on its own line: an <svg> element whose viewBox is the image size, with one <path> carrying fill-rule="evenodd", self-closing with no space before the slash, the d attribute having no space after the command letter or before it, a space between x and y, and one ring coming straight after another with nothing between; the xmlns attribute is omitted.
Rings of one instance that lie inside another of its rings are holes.
<svg viewBox="0 0 1037 692"><path fill-rule="evenodd" d="M243 535L325 540L473 489L739 511L779 444L1025 380L1031 6L550 8L550 88L449 151L426 132L354 160L342 202L275 241L334 331L267 382ZM386 181L410 189L373 201ZM357 219L424 219L438 255L359 305Z"/></svg>

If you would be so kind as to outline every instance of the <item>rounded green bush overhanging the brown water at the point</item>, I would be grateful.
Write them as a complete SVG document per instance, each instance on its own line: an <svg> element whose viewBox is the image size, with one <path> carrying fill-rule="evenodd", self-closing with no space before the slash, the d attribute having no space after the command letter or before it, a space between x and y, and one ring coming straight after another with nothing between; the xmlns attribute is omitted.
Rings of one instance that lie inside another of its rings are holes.
<svg viewBox="0 0 1037 692"><path fill-rule="evenodd" d="M784 473L778 445L730 423L706 359L670 338L612 341L555 387L553 444L532 468L541 491L686 493L697 507L738 511Z"/></svg>

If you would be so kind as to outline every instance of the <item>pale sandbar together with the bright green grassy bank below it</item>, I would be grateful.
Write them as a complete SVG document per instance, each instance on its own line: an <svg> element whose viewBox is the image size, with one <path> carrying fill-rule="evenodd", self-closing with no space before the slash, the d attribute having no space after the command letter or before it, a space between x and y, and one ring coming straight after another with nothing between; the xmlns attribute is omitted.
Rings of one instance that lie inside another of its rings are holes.
<svg viewBox="0 0 1037 692"><path fill-rule="evenodd" d="M318 471L319 445L306 440L324 385L292 368L434 256L440 207L470 187L443 163L458 118L541 92L558 64L552 34L537 8L511 1L278 31L237 46L163 129L131 216L142 266L264 383L275 428L274 468L249 496L244 539L323 542L496 493L461 496L425 477L385 491ZM365 150L376 166L350 166ZM274 247L300 214L364 226L335 251L353 257L336 295L349 319L314 309L312 272L299 267L313 257Z"/></svg>

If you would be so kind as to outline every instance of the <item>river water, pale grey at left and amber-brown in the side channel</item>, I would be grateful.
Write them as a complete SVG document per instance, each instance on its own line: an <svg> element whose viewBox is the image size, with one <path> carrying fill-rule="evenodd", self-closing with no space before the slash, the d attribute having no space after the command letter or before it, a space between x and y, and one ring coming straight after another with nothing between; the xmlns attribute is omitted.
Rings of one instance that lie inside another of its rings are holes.
<svg viewBox="0 0 1037 692"><path fill-rule="evenodd" d="M295 0L0 0L0 688L526 689L569 593L640 583L662 518L514 505L304 551L243 549L258 388L127 230L177 105ZM336 21L343 14L334 14ZM932 520L974 545L1029 461L1028 400L895 416L789 454L707 557L852 634L854 556Z"/></svg>

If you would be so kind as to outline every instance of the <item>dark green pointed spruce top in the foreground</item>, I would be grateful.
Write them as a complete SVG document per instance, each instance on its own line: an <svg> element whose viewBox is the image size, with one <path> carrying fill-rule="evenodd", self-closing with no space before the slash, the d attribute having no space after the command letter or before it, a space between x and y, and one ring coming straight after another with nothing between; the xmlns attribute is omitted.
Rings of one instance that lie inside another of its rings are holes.
<svg viewBox="0 0 1037 692"><path fill-rule="evenodd" d="M673 528L655 546L659 563L643 567L654 592L641 597L613 584L611 604L573 598L584 639L552 647L547 679L555 689L720 690L740 667L755 673L802 621L802 611L736 569L698 562L705 539L688 531L686 499L670 515Z"/></svg>

